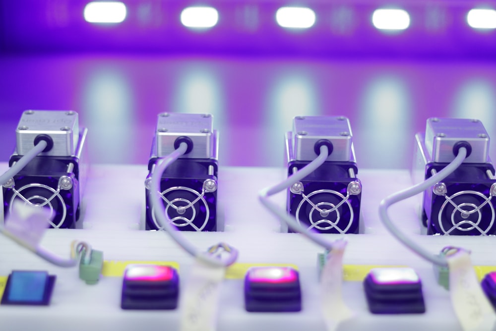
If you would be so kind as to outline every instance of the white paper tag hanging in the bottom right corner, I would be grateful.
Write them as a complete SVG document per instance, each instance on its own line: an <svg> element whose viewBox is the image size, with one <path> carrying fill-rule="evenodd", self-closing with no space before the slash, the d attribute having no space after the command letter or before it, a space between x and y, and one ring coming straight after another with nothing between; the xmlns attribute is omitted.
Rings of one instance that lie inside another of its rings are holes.
<svg viewBox="0 0 496 331"><path fill-rule="evenodd" d="M464 331L492 331L496 326L493 306L482 291L467 251L446 256L449 266L451 304Z"/></svg>

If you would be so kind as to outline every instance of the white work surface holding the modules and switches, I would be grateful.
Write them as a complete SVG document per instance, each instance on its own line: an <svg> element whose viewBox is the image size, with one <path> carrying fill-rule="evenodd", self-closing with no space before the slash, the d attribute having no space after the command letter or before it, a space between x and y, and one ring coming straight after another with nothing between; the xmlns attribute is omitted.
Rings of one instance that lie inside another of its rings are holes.
<svg viewBox="0 0 496 331"><path fill-rule="evenodd" d="M0 171L7 168L0 163ZM285 176L285 169L221 167L219 220L225 231L183 235L201 249L220 241L239 249L238 262L289 263L299 267L303 310L299 313L248 313L244 309L243 280L224 282L218 316L219 331L325 330L319 307L317 253L323 251L299 234L278 233L280 225L257 200L263 187ZM93 165L76 230L46 231L42 245L63 257L74 239L88 241L104 252L105 260L176 261L181 286L187 282L193 259L164 232L139 230L144 218L146 166ZM449 293L436 284L433 267L404 248L387 233L378 218L379 201L411 185L406 170L361 170L361 234L346 235L345 264L409 265L423 282L427 312L414 315L373 315L368 311L362 282L344 282L343 295L355 317L339 330L461 330ZM273 197L281 208L286 195ZM390 208L401 229L433 254L447 245L472 251L474 265L496 265L494 237L420 235L419 200L409 199ZM342 235L325 235L335 240ZM12 270L48 270L57 281L48 307L0 306L0 330L179 330L180 306L174 311L129 311L120 308L122 279L102 277L96 285L78 279L77 268L50 265L9 239L0 236L0 275Z"/></svg>

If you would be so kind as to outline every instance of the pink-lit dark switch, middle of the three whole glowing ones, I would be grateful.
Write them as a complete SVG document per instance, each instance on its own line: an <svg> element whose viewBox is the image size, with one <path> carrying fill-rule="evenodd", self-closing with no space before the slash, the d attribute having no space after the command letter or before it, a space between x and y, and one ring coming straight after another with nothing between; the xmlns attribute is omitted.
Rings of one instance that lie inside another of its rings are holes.
<svg viewBox="0 0 496 331"><path fill-rule="evenodd" d="M245 276L248 312L299 312L302 293L298 271L291 267L251 267Z"/></svg>

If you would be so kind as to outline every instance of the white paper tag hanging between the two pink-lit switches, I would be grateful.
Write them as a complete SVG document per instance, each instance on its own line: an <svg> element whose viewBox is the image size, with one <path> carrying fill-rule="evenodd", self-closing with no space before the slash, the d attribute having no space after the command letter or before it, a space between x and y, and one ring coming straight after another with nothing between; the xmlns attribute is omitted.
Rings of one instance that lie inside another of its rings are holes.
<svg viewBox="0 0 496 331"><path fill-rule="evenodd" d="M214 331L226 267L195 259L181 296L181 331Z"/></svg>

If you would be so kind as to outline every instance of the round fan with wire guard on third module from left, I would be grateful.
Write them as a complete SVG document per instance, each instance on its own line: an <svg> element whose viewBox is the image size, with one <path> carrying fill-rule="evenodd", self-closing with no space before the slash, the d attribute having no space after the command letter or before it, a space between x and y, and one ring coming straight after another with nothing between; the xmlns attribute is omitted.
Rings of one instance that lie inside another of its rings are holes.
<svg viewBox="0 0 496 331"><path fill-rule="evenodd" d="M347 233L353 224L354 214L353 207L345 196L333 190L317 190L307 195L307 199L323 212L312 206L306 199L302 199L295 214L300 225L306 226L309 230L329 232L335 229L338 233ZM332 210L343 200L345 203ZM346 209L349 209L349 212Z"/></svg>

